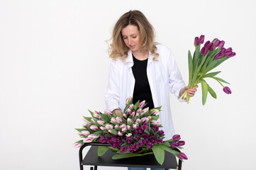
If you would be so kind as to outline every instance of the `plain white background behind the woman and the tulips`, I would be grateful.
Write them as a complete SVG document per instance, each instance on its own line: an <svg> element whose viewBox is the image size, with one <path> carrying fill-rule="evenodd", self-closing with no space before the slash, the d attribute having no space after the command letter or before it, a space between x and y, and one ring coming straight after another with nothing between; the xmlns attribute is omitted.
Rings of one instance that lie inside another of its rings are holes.
<svg viewBox="0 0 256 170"><path fill-rule="evenodd" d="M174 53L188 82L194 37L225 40L237 55L221 64L231 83L201 104L171 97L176 132L187 142L182 169L255 168L256 1L0 1L0 169L79 169L82 115L104 111L114 23L143 11L157 42ZM100 169L113 169L101 167ZM125 168L116 168L125 169Z"/></svg>

